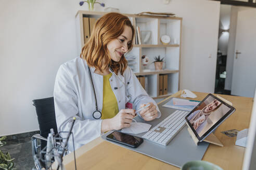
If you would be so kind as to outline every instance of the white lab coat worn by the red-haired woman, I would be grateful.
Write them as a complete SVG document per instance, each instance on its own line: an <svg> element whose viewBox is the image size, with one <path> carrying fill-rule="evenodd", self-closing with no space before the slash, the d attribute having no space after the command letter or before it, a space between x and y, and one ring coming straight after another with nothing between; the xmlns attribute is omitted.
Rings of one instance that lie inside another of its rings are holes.
<svg viewBox="0 0 256 170"><path fill-rule="evenodd" d="M103 107L103 76L94 73L95 68L90 67L97 98L98 110ZM109 79L110 86L117 98L119 110L125 109L125 103L133 103L133 108L138 109L140 104L152 102L156 104L140 85L130 67L124 71L120 79L127 84L125 87L120 80L112 75ZM78 149L89 141L101 135L101 119L93 118L95 108L92 84L89 78L88 67L85 60L75 58L59 67L54 86L54 104L58 131L69 131L70 118L76 117L73 134L74 148ZM158 110L158 118L161 113ZM61 125L65 122L63 125ZM61 127L60 127L61 125ZM61 134L66 137L65 134ZM69 151L73 151L72 138L68 142Z"/></svg>

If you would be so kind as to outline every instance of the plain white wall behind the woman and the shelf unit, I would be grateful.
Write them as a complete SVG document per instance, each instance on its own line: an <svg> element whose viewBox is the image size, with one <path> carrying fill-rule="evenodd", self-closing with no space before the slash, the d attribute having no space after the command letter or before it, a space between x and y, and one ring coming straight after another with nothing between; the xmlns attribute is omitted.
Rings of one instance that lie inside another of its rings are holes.
<svg viewBox="0 0 256 170"><path fill-rule="evenodd" d="M213 92L220 2L101 2L123 13L174 12L183 17L181 89ZM0 136L39 129L31 101L53 96L59 65L79 54L74 17L87 7L78 4L77 0L0 0ZM103 8L96 5L96 10ZM206 68L213 65L211 72L204 71L204 63Z"/></svg>

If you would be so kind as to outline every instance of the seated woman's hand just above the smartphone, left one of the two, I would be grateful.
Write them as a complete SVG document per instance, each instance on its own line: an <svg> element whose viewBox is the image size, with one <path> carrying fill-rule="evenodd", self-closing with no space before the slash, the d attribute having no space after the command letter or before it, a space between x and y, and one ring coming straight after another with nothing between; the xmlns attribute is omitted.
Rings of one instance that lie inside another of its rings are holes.
<svg viewBox="0 0 256 170"><path fill-rule="evenodd" d="M101 133L111 130L120 130L130 127L135 116L133 109L121 109L116 116L111 119L104 119L101 124Z"/></svg>

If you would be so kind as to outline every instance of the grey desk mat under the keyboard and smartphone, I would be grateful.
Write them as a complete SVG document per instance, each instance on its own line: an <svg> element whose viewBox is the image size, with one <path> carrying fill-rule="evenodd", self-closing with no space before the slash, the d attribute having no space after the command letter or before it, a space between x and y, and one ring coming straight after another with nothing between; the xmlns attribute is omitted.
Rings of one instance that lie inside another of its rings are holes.
<svg viewBox="0 0 256 170"><path fill-rule="evenodd" d="M171 100L171 98L169 100ZM163 103L158 105L162 114L162 116L159 119L155 119L150 122L146 122L138 116L134 119L137 122L149 123L152 125L152 127L157 125L160 121L164 120L166 117L168 117L171 113L173 113L176 110L172 108L162 107L162 105L167 103L169 100L164 101ZM113 131L109 131L101 137L106 140L106 136L112 132ZM132 135L142 137L145 133ZM193 139L191 138L187 131L187 126L184 126L183 129L170 141L170 143L167 146L155 144L146 139L144 139L143 143L138 148L127 147L122 144L115 143L113 141L109 142L133 150L135 152L148 155L149 157L155 158L157 160L177 167L181 167L188 161L201 160L209 146L209 143L206 143L204 141L199 143L198 146L196 146Z"/></svg>

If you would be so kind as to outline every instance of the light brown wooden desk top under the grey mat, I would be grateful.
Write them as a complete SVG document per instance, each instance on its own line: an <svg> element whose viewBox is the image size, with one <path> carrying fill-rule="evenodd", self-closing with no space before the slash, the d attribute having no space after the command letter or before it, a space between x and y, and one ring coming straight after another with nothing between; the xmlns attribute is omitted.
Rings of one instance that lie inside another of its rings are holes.
<svg viewBox="0 0 256 170"><path fill-rule="evenodd" d="M194 100L203 100L208 93L195 92ZM170 97L180 97L181 91ZM219 94L218 94L219 95ZM249 127L253 98L220 95L233 103L236 111L225 120L215 131L215 135L224 147L210 144L203 156L204 161L212 162L223 169L241 169L245 148L235 145L236 137L227 137L222 131ZM168 97L169 98L169 97ZM180 97L182 98L182 97ZM161 102L160 102L161 103ZM160 104L159 103L159 104ZM193 142L193 141L191 141ZM97 146L97 147L96 147ZM179 169L175 166L150 158L144 154L125 149L96 138L75 151L78 169ZM73 154L63 158L67 170L74 169Z"/></svg>

